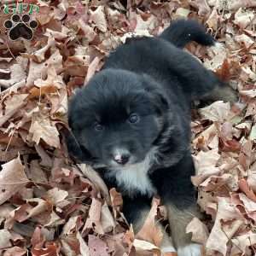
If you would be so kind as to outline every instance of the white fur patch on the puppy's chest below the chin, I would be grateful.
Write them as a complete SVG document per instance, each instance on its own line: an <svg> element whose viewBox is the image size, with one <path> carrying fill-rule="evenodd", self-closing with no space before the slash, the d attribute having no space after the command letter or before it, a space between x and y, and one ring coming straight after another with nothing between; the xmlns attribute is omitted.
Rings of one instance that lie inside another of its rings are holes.
<svg viewBox="0 0 256 256"><path fill-rule="evenodd" d="M115 177L118 187L128 195L140 191L143 195L154 195L155 189L148 177L148 170L154 161L155 148L152 149L145 159L137 164L113 167L109 177Z"/></svg>

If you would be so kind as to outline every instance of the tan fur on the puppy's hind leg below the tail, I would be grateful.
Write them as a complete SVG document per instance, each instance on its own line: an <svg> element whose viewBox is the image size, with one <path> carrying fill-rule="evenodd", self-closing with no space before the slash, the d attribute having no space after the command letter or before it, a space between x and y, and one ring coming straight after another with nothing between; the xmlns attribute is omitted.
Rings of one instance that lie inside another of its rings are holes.
<svg viewBox="0 0 256 256"><path fill-rule="evenodd" d="M236 90L233 90L230 86L216 87L209 94L202 97L202 100L207 101L224 101L235 103L238 100Z"/></svg>

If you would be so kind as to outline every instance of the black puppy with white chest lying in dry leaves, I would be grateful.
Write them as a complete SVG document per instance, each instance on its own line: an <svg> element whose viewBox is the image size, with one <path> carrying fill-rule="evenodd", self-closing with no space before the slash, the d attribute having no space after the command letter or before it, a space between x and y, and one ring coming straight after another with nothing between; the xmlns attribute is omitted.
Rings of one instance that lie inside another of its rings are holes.
<svg viewBox="0 0 256 256"><path fill-rule="evenodd" d="M93 166L123 195L123 212L140 228L151 199L166 205L179 256L201 255L185 228L196 214L190 153L190 104L234 92L183 51L214 44L195 20L177 20L157 38L132 38L69 102L70 154Z"/></svg>

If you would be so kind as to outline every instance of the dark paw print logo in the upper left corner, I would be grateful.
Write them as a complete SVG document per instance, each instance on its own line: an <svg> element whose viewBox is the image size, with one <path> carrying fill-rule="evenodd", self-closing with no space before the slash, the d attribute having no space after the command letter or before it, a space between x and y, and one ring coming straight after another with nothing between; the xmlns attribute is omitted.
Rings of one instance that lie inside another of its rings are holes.
<svg viewBox="0 0 256 256"><path fill-rule="evenodd" d="M37 28L38 21L30 20L30 16L27 14L12 15L10 20L5 20L3 26L9 32L9 38L15 41L19 38L31 40L33 38L33 30Z"/></svg>

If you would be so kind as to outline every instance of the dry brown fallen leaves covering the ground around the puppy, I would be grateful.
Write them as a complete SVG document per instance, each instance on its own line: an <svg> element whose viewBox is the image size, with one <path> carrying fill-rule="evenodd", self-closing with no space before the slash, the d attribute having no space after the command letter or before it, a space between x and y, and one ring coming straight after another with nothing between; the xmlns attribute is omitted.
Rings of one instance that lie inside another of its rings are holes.
<svg viewBox="0 0 256 256"><path fill-rule="evenodd" d="M67 99L126 38L157 35L189 17L218 44L186 50L229 81L240 101L192 112L191 180L206 218L194 218L187 232L203 255L255 255L256 2L120 2L38 1L32 41L10 41L2 25L10 15L0 15L0 254L160 255L160 201L135 236L119 193L68 158Z"/></svg>

